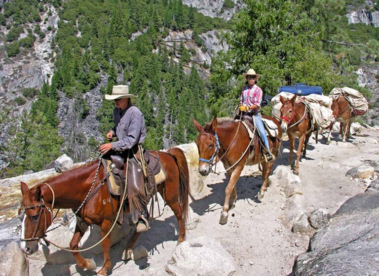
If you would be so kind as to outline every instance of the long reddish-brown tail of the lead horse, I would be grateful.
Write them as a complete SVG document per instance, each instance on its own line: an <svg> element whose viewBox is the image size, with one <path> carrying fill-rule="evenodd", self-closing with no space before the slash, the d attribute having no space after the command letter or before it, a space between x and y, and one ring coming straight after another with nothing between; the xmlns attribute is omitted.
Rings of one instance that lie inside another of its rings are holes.
<svg viewBox="0 0 379 276"><path fill-rule="evenodd" d="M189 189L189 170L186 156L181 149L172 148L167 151L176 162L179 169L179 203L183 210L183 220L184 224L187 224L188 219L188 196L190 193Z"/></svg>

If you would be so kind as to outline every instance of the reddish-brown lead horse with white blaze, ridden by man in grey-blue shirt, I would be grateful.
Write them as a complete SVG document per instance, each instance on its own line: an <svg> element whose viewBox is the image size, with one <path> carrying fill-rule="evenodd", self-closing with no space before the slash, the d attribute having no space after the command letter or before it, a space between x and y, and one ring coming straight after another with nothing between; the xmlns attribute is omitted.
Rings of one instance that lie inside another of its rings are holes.
<svg viewBox="0 0 379 276"><path fill-rule="evenodd" d="M167 153L158 152L158 156L166 171L166 180L157 186L157 190L178 220L179 243L185 239L188 216L189 171L187 160L183 151L177 148L170 149ZM98 161L90 162L48 179L31 189L24 182L21 182L23 197L19 212L25 211L22 216L21 248L25 253L33 254L38 249L38 240L43 238L44 232L51 224L53 191L55 197L53 208L78 208L94 181L97 166ZM104 167L100 166L93 189L96 190L97 186L102 185L104 179ZM78 249L81 237L88 226L92 224L99 225L102 236L105 237L116 219L114 210L118 210L119 203L119 197L111 197L107 185L102 185L77 213L77 216L84 223L79 223L77 220L70 248L72 250ZM139 233L134 232L128 241L124 254L127 254L128 250L134 247L138 236ZM111 268L110 244L110 236L102 241L104 266L98 273L99 275L107 275L107 270ZM96 264L91 259L84 259L79 252L73 252L73 255L80 268L96 269Z"/></svg>

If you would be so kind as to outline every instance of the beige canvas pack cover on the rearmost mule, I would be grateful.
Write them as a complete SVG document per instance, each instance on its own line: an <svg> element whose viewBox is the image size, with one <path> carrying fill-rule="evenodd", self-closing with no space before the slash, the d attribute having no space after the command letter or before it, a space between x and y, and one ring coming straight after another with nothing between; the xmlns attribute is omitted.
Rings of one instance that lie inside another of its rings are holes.
<svg viewBox="0 0 379 276"><path fill-rule="evenodd" d="M345 98L349 101L354 114L363 115L369 110L369 103L366 98L359 91L350 87L335 87L330 91L329 97L334 100L342 95L345 95Z"/></svg>

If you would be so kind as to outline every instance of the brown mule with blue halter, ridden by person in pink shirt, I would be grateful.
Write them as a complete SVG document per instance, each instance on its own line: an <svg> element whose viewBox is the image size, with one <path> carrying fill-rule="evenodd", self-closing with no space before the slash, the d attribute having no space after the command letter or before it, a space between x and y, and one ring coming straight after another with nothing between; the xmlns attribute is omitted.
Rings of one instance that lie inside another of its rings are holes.
<svg viewBox="0 0 379 276"><path fill-rule="evenodd" d="M278 126L279 137L268 137L268 142L272 149L271 152L276 156L280 146L281 130L274 118L266 116L265 118L274 121ZM229 183L225 190L225 202L220 217L220 224L226 224L229 199L231 197L232 206L234 206L237 199L235 185L245 164L262 164L263 184L259 193L259 198L262 198L267 188L268 176L271 173L273 162L266 162L265 158L261 155L261 145L257 131L255 132L253 141L250 141L246 128L240 122L236 122L231 118L221 118L219 120L214 118L211 123L207 123L204 127L195 119L193 119L193 124L200 132L200 135L196 139L200 157L198 169L200 174L208 175L214 164L214 158L216 158L216 162L218 160L223 162L229 176ZM253 157L251 157L251 154Z"/></svg>

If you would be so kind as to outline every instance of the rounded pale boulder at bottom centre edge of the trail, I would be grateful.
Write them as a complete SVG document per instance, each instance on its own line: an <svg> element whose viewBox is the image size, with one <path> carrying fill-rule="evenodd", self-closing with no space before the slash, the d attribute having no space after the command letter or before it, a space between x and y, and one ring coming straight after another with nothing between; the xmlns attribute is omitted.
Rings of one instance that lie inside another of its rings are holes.
<svg viewBox="0 0 379 276"><path fill-rule="evenodd" d="M219 242L203 236L179 244L166 271L174 276L231 276L236 266Z"/></svg>

